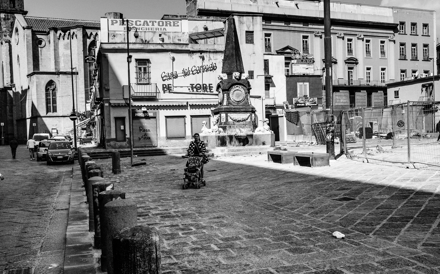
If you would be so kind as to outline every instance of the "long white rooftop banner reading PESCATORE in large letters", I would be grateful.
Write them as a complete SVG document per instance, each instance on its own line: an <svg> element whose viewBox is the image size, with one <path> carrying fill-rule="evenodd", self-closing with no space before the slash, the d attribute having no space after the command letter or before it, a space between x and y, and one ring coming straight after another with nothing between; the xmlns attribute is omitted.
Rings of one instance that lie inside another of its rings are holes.
<svg viewBox="0 0 440 274"><path fill-rule="evenodd" d="M127 21L122 19L107 19L109 31L127 31ZM136 27L137 31L182 32L180 20L145 20L128 19L129 27Z"/></svg>

